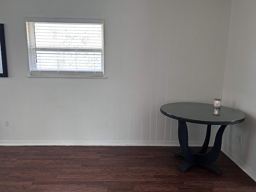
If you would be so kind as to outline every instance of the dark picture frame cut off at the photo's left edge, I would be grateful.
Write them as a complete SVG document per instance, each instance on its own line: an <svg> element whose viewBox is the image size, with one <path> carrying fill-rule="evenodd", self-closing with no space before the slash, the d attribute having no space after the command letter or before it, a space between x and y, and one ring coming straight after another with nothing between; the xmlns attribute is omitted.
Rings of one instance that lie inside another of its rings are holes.
<svg viewBox="0 0 256 192"><path fill-rule="evenodd" d="M0 77L8 77L4 40L4 24L0 24L0 45Z"/></svg>

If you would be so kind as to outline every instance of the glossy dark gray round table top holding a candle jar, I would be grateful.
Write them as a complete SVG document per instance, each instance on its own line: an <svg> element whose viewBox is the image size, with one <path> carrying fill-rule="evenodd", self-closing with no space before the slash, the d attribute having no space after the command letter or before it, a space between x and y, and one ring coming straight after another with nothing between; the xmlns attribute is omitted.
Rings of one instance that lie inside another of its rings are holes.
<svg viewBox="0 0 256 192"><path fill-rule="evenodd" d="M178 102L168 103L161 106L162 114L181 121L209 124L209 125L230 125L244 121L245 114L239 110L222 106L220 115L213 115L213 104Z"/></svg>

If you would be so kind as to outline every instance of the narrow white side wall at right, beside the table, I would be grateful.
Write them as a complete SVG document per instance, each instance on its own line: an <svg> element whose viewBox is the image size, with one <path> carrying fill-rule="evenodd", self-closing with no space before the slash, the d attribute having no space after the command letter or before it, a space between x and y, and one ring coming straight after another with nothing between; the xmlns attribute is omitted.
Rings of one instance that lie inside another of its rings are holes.
<svg viewBox="0 0 256 192"><path fill-rule="evenodd" d="M225 130L222 150L256 181L255 10L255 0L232 1L222 98L224 105L245 112L246 119Z"/></svg>

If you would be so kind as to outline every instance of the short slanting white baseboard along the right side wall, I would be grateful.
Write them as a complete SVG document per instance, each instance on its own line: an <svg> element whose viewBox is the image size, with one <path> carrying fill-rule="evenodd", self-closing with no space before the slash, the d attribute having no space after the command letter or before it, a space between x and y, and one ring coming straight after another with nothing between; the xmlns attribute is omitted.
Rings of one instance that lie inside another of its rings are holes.
<svg viewBox="0 0 256 192"><path fill-rule="evenodd" d="M256 172L248 167L244 162L240 161L234 154L232 154L227 148L222 147L222 152L226 154L235 164L237 164L248 176L256 181Z"/></svg>

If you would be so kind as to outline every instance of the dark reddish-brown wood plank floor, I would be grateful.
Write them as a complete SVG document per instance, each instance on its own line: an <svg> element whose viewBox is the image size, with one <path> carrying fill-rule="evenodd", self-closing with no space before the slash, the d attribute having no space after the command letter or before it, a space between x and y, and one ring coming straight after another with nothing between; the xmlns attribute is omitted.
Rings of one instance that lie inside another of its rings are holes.
<svg viewBox="0 0 256 192"><path fill-rule="evenodd" d="M0 146L1 192L256 192L256 182L225 154L220 176L184 162L179 147Z"/></svg>

